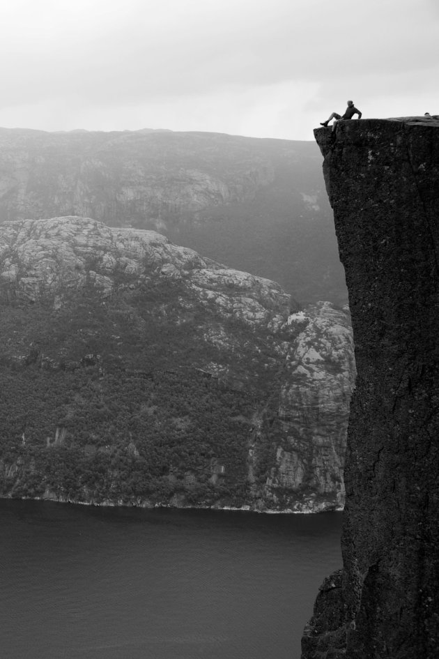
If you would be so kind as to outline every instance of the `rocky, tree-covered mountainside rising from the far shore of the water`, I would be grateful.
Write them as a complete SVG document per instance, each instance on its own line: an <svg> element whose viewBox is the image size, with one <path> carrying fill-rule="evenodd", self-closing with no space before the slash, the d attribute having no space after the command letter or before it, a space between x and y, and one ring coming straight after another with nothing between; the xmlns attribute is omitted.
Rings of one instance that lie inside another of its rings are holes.
<svg viewBox="0 0 439 659"><path fill-rule="evenodd" d="M0 227L3 496L339 507L348 313L155 231Z"/></svg>

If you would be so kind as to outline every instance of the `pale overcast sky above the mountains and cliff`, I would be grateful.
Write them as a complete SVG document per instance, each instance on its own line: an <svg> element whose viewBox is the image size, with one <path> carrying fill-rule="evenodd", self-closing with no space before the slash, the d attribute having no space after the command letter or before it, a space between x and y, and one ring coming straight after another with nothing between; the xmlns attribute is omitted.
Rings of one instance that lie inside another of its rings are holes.
<svg viewBox="0 0 439 659"><path fill-rule="evenodd" d="M313 139L439 114L439 0L3 0L0 126Z"/></svg>

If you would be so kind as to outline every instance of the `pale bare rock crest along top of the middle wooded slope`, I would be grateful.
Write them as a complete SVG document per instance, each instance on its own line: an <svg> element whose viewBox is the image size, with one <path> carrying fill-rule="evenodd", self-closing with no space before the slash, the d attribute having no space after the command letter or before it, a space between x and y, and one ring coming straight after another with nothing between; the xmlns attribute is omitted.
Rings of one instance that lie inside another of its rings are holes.
<svg viewBox="0 0 439 659"><path fill-rule="evenodd" d="M202 305L249 326L285 324L291 297L269 280L202 259L152 231L110 229L89 218L5 222L0 229L0 280L19 300L59 305L91 283L102 298L158 277L180 282Z"/></svg>

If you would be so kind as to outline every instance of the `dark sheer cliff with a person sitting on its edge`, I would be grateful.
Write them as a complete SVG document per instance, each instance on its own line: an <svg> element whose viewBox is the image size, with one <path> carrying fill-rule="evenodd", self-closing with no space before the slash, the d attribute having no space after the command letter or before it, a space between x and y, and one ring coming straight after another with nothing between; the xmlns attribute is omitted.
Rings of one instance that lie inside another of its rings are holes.
<svg viewBox="0 0 439 659"><path fill-rule="evenodd" d="M439 652L439 121L315 131L353 321L344 568L302 658Z"/></svg>

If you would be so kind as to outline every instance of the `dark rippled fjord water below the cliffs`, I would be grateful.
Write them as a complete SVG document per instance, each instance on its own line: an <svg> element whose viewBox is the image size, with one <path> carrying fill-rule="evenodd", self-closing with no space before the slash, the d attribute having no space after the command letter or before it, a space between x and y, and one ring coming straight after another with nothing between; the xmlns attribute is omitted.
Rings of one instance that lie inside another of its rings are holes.
<svg viewBox="0 0 439 659"><path fill-rule="evenodd" d="M340 513L0 500L4 659L299 659Z"/></svg>

